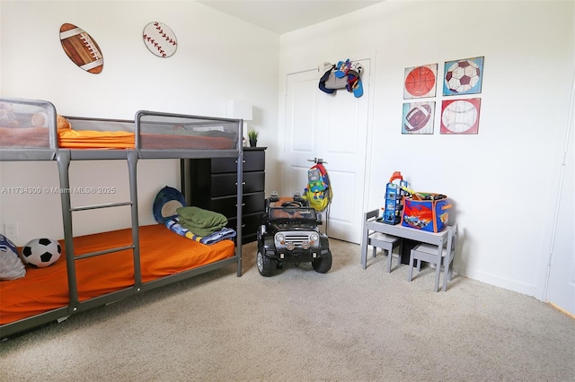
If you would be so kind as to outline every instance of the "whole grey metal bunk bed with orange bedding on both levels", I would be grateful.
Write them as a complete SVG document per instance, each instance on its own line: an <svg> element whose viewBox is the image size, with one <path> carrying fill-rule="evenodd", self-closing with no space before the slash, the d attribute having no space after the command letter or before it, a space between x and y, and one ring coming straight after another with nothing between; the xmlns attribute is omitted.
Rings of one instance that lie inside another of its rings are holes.
<svg viewBox="0 0 575 382"><path fill-rule="evenodd" d="M241 119L145 110L134 120L62 118L49 101L0 98L0 161L57 161L59 187L71 190L71 161L125 160L130 199L73 206L70 192L59 193L62 256L46 268L27 267L20 279L0 281L0 339L223 266L235 265L241 276L242 126ZM197 158L237 163L234 241L204 245L161 224L139 224L137 161ZM122 205L129 206L130 228L74 235L73 213Z"/></svg>

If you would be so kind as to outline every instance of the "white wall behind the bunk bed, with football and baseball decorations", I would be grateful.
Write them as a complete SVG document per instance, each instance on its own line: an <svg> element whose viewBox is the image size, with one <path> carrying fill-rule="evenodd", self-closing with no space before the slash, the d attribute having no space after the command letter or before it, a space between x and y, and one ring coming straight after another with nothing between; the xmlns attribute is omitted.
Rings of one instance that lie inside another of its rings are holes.
<svg viewBox="0 0 575 382"><path fill-rule="evenodd" d="M250 127L259 145L276 145L279 36L194 2L2 1L0 92L49 100L68 116L133 118L138 109L226 117L227 100L254 106ZM164 22L178 49L152 55L142 41L148 22ZM60 46L60 25L70 22L96 40L102 74L76 67ZM139 215L151 213L157 191L179 187L178 161L139 161ZM117 187L115 195L73 195L73 205L128 200L123 161L74 162L72 187ZM0 187L57 187L55 162L0 163ZM267 181L273 183L274 171ZM121 207L125 208L125 207ZM0 195L0 223L18 222L18 245L63 237L59 195ZM128 227L128 209L75 213L75 234ZM0 226L0 229L2 227Z"/></svg>

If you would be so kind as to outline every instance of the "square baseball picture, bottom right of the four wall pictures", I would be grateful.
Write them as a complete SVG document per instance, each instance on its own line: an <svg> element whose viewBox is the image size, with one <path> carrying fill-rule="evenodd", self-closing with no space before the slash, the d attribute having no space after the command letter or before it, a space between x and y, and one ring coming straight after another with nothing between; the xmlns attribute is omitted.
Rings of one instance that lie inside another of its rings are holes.
<svg viewBox="0 0 575 382"><path fill-rule="evenodd" d="M443 100L439 134L477 134L482 99Z"/></svg>

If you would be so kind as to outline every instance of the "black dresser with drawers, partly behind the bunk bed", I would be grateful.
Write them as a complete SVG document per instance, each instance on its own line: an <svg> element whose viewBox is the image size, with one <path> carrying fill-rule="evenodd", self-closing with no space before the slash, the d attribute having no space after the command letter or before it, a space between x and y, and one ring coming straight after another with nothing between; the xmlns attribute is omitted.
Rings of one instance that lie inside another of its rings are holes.
<svg viewBox="0 0 575 382"><path fill-rule="evenodd" d="M243 148L242 242L256 239L265 212L266 147ZM237 230L235 158L184 160L182 187L188 205L222 213Z"/></svg>

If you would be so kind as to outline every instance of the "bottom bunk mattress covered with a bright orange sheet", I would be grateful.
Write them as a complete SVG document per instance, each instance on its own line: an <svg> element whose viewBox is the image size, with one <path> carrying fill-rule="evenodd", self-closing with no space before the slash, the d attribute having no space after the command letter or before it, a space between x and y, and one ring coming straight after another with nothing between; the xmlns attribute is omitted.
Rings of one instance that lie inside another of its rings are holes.
<svg viewBox="0 0 575 382"><path fill-rule="evenodd" d="M183 238L164 225L143 226L140 236L142 282L208 265L234 256L232 240L212 245ZM0 282L0 325L32 317L68 305L66 247L62 256L46 268L26 267L20 279ZM132 244L132 231L114 230L74 239L76 256ZM131 249L75 261L78 300L84 301L134 285Z"/></svg>

